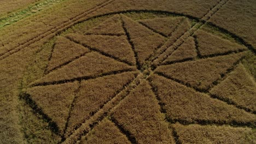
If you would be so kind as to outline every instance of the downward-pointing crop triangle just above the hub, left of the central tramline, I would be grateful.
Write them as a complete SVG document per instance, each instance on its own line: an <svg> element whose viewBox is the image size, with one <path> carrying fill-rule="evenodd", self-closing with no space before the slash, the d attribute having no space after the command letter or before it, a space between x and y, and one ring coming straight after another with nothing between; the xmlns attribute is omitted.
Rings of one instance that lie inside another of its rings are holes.
<svg viewBox="0 0 256 144"><path fill-rule="evenodd" d="M158 49L158 46L164 43L165 37L154 33L126 16L122 16L122 19L137 53L138 62L142 65Z"/></svg>

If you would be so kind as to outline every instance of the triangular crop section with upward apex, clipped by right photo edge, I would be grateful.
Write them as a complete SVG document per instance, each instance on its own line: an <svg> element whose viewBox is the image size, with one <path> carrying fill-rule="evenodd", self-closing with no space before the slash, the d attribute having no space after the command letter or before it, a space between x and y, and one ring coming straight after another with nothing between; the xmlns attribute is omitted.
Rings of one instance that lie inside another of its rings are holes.
<svg viewBox="0 0 256 144"><path fill-rule="evenodd" d="M239 64L210 93L222 99L232 101L239 106L246 107L246 109L251 111L256 111L256 84L242 64Z"/></svg>

